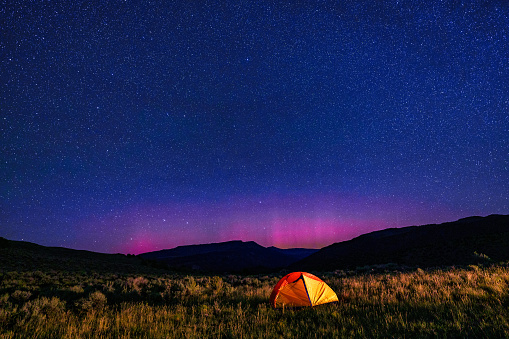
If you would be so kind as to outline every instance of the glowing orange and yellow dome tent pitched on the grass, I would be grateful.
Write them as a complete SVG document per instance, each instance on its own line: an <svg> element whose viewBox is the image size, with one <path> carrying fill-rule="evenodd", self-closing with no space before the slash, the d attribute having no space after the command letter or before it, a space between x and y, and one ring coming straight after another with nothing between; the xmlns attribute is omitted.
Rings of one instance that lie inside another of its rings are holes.
<svg viewBox="0 0 509 339"><path fill-rule="evenodd" d="M338 301L336 293L320 278L306 272L285 275L270 295L274 308L316 306L334 301Z"/></svg>

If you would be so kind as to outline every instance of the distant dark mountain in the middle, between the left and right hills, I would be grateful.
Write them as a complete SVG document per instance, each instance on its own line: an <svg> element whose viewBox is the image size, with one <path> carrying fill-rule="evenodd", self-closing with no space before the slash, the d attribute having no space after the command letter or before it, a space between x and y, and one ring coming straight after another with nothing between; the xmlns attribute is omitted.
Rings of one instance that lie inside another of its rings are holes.
<svg viewBox="0 0 509 339"><path fill-rule="evenodd" d="M139 257L163 262L174 269L254 273L279 270L316 251L318 250L263 247L254 241L227 241L179 246L143 253Z"/></svg>

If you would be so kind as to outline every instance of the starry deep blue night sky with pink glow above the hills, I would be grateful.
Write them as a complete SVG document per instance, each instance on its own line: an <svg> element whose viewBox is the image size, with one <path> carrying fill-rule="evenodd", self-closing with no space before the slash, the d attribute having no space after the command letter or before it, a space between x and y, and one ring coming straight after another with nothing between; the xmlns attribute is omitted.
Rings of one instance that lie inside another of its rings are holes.
<svg viewBox="0 0 509 339"><path fill-rule="evenodd" d="M0 23L7 239L319 248L509 213L507 1L2 1Z"/></svg>

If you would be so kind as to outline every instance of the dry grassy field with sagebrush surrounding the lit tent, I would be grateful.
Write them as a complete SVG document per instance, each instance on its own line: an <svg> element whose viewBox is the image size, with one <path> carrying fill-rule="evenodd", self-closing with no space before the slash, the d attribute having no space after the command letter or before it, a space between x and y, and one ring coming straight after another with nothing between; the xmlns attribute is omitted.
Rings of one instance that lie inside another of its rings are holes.
<svg viewBox="0 0 509 339"><path fill-rule="evenodd" d="M509 337L509 267L317 273L340 302L268 303L278 276L3 272L0 338Z"/></svg>

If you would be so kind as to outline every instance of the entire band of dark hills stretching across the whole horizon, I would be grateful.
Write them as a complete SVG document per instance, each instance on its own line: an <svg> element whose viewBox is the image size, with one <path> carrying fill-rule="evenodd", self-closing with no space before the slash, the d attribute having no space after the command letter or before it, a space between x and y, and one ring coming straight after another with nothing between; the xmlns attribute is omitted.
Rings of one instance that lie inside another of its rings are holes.
<svg viewBox="0 0 509 339"><path fill-rule="evenodd" d="M439 267L509 261L509 215L389 228L314 249L263 247L253 241L179 246L138 256L45 247L0 237L0 272L210 273L333 271L394 263Z"/></svg>

